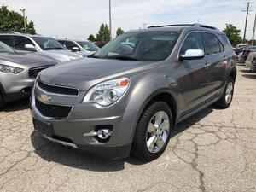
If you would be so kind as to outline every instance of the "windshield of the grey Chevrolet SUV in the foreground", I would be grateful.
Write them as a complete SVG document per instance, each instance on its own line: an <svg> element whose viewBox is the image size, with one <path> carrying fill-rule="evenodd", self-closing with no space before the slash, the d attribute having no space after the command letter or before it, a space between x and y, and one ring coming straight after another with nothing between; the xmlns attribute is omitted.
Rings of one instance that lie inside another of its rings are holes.
<svg viewBox="0 0 256 192"><path fill-rule="evenodd" d="M134 61L163 61L177 41L177 32L127 32L92 57Z"/></svg>

